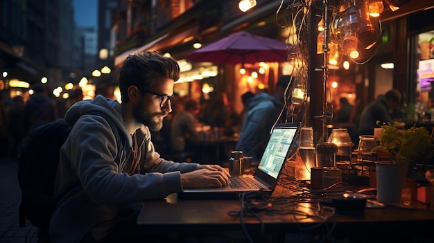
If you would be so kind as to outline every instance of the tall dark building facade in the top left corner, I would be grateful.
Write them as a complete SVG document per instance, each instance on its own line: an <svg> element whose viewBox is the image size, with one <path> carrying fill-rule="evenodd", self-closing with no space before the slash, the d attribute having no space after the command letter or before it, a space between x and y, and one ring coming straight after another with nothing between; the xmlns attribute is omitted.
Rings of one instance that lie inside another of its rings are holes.
<svg viewBox="0 0 434 243"><path fill-rule="evenodd" d="M55 87L81 72L73 0L1 0L0 12L3 91L15 92L9 90L10 80L31 85L45 77Z"/></svg>

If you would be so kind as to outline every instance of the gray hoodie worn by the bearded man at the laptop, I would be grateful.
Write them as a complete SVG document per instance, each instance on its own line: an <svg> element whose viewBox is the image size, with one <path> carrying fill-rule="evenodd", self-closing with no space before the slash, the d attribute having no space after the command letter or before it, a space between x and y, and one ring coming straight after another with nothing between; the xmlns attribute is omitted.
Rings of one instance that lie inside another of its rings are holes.
<svg viewBox="0 0 434 243"><path fill-rule="evenodd" d="M89 114L98 111L111 118L125 136L125 151L117 151L116 138L105 118ZM129 175L119 171L121 161L114 161L121 152L128 154L132 137L123 123L121 104L103 96L76 102L65 115L73 126L60 150L55 195L76 185L58 203L51 217L51 242L80 242L92 229L103 237L116 226L125 208L137 217L140 202L163 199L182 191L180 173L196 170L197 163L175 163L160 158L150 141L148 127L137 130L140 173ZM144 143L141 143L144 141ZM125 159L125 156L120 156Z"/></svg>

